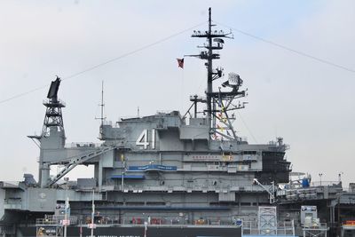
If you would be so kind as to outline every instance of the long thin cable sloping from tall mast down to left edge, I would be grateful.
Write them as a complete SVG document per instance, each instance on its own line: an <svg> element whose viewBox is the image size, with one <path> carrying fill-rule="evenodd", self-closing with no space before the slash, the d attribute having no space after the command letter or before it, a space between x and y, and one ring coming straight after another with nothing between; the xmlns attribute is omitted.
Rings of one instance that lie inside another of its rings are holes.
<svg viewBox="0 0 355 237"><path fill-rule="evenodd" d="M120 56L118 56L118 57L116 57L116 58L114 58L114 59L106 60L105 62L99 63L99 64L97 64L97 65L95 65L95 66L92 66L92 67L88 67L88 68L86 68L86 69L84 69L84 70L82 70L82 71L80 71L80 72L75 73L75 74L67 75L67 76L61 77L61 79L62 79L62 81L65 81L65 80L74 78L74 77L76 77L76 76L78 76L78 75L82 75L82 74L84 74L84 73L90 72L90 71L92 71L92 70L94 70L94 69L96 69L96 68L98 68L98 67L102 67L102 66L105 66L106 64L112 63L112 62L114 62L114 61L116 61L116 60L119 60L119 59L128 57L128 56L130 56L130 55L132 55L132 54L134 54L134 53L137 53L138 51L144 51L144 50L146 50L146 49L148 49L148 48L150 48L150 47L152 47L152 46L154 46L154 45L156 45L156 44L163 43L163 42L165 42L165 41L167 41L167 40L170 40L171 38L173 38L173 37L175 37L175 36L179 36L179 35L185 33L186 31L192 30L193 28L200 27L202 24L205 24L205 23L206 23L206 21L203 21L203 22L201 22L200 24L197 24L197 25L195 25L195 26L193 26L193 27L191 27L191 28L186 28L186 29L184 29L184 30L181 30L181 31L175 33L175 34L172 34L172 35L167 36L167 37L164 37L164 38L162 38L162 39L160 39L160 40L158 40L158 41L155 41L154 43L146 44L145 46L142 46L142 47L138 48L137 50L126 52L126 53L124 53L124 54L122 54L122 55L120 55ZM30 91L25 91L25 92L22 92L22 93L20 93L20 94L14 95L14 96L12 96L12 97L10 97L10 98L0 100L0 104L4 104L5 102L10 101L10 100L12 100L12 99L17 99L17 98L23 97L23 96L25 96L25 95L28 95L28 94L30 94L30 93L32 93L32 92L39 91L39 90L41 90L41 89L43 89L43 88L48 87L49 85L50 85L50 83L47 83L47 84L45 84L45 85L43 85L43 86L37 87L37 88L32 89L32 90L30 90Z"/></svg>

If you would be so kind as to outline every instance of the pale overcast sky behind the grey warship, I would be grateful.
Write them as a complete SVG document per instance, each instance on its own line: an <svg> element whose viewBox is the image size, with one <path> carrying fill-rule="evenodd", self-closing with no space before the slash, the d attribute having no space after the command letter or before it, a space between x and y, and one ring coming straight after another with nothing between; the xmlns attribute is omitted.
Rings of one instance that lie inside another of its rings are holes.
<svg viewBox="0 0 355 237"><path fill-rule="evenodd" d="M95 116L102 80L107 120L137 115L137 107L140 115L185 112L188 96L205 90L206 70L193 58L181 70L176 58L199 51L196 45L204 42L190 37L193 29L185 30L206 22L209 6L220 28L234 29L216 66L240 74L248 88L249 104L235 122L238 135L249 143L283 137L294 171L311 173L313 181L319 173L322 180L337 180L343 172L346 184L354 182L355 2L308 0L1 1L0 179L22 180L24 172L37 179L39 150L26 136L42 129L45 85L55 75L64 79L59 98L67 102L67 143L99 141ZM70 178L90 171L73 170Z"/></svg>

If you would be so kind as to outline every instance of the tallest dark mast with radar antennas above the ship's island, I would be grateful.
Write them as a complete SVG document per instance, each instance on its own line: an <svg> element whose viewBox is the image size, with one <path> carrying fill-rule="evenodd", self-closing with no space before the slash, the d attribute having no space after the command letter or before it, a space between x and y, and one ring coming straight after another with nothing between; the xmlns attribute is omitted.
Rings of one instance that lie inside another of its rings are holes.
<svg viewBox="0 0 355 237"><path fill-rule="evenodd" d="M238 140L235 130L233 129L233 121L235 116L230 116L228 112L244 107L246 102L234 105L233 100L245 97L246 93L245 91L239 91L242 80L241 77L235 73L228 74L228 81L221 84L223 87L232 88L232 91L221 91L220 87L218 88L218 91L213 91L213 82L224 76L222 67L213 69L213 60L220 59L220 55L217 51L223 49L225 41L222 38L233 38L231 32L225 33L223 30L212 30L212 27L215 26L216 25L212 24L211 8L209 8L208 30L204 32L194 30L192 36L206 38L207 43L204 43L202 46L198 46L199 48L204 48L206 50L201 51L200 54L197 55L186 56L207 60L205 63L205 66L207 67L207 91L205 91L206 100L200 99L199 102L207 104L207 109L204 112L207 113L209 131L212 138L217 138L219 135L226 139ZM193 97L193 99L190 100L194 103L194 114L196 116L196 104L198 99Z"/></svg>

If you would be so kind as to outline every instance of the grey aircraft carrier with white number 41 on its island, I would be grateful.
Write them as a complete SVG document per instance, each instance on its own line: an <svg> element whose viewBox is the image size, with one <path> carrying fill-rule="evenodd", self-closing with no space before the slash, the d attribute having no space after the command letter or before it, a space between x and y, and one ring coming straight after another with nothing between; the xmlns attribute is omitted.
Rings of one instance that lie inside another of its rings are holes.
<svg viewBox="0 0 355 237"><path fill-rule="evenodd" d="M314 185L302 173L290 180L282 138L248 144L237 136L247 91L240 75L213 67L233 38L215 27L209 9L207 30L192 35L206 42L187 55L205 62L205 95L191 96L185 114L101 116L99 143L66 144L57 77L43 101L42 133L28 136L40 148L38 182L30 174L0 182L0 235L353 236L354 186ZM79 165L93 165L93 178L65 178Z"/></svg>

